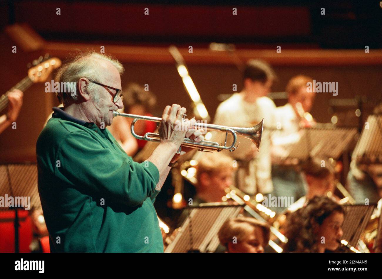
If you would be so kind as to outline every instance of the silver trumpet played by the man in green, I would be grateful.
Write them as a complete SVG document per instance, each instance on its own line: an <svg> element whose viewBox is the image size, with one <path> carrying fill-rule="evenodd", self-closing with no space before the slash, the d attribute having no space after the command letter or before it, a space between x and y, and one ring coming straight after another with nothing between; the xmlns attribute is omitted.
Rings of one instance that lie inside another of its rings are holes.
<svg viewBox="0 0 382 279"><path fill-rule="evenodd" d="M142 139L145 141L160 141L159 133L146 133L144 136L137 135L134 131L134 125L138 120L148 120L148 121L154 121L154 122L161 122L162 119L160 117L152 117L152 116L144 116L144 115L136 115L136 114L127 114L127 113L121 113L118 111L113 111L113 117L115 116L123 116L123 117L130 117L134 120L131 122L131 134L134 136L134 138ZM222 150L229 150L234 151L237 148L236 142L237 142L237 136L243 136L244 138L248 138L251 140L259 149L260 141L261 141L261 135L263 130L263 120L259 122L257 125L253 127L248 128L240 128L240 127L228 127L228 126L221 126L221 125L215 125L215 124L206 124L206 123L194 123L195 128L203 128L205 130L211 130L211 131L221 131L225 132L225 142L224 145L219 144L214 141L200 141L196 142L191 139L185 138L183 140L182 146L190 147L190 148L197 148L199 151L208 151L213 152L217 151L220 152ZM228 133L231 133L233 139L232 143L228 146L227 145L227 136ZM181 147L178 150L178 154L181 151Z"/></svg>

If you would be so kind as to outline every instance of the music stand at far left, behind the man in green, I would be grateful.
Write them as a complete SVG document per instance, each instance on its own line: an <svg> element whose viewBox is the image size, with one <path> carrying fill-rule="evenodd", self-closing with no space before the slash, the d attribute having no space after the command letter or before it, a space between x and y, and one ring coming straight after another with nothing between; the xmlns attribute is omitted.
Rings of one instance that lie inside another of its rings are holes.
<svg viewBox="0 0 382 279"><path fill-rule="evenodd" d="M41 208L37 189L36 164L0 164L0 196L31 197L30 208ZM0 212L15 210L15 252L19 252L19 213L20 207L0 207Z"/></svg>

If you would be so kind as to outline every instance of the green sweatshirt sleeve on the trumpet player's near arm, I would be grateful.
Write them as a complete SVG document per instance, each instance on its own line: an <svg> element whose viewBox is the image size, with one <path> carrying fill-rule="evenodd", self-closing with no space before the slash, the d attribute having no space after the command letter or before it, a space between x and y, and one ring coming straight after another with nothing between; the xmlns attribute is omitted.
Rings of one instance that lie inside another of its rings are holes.
<svg viewBox="0 0 382 279"><path fill-rule="evenodd" d="M149 161L141 164L131 157L105 148L85 131L66 135L58 150L60 167L55 168L74 185L131 207L155 198L159 171ZM81 189L79 189L81 191Z"/></svg>

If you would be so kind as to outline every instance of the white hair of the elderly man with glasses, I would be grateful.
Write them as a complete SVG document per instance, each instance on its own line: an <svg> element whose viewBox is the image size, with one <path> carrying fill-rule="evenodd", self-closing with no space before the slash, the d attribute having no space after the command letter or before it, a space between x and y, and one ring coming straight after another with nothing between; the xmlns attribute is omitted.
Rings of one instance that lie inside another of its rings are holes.
<svg viewBox="0 0 382 279"><path fill-rule="evenodd" d="M66 82L70 84L70 82L76 83L76 90L78 91L77 82L81 77L86 77L91 81L97 81L99 77L99 59L110 62L121 74L125 69L122 64L117 60L112 58L110 55L105 55L102 53L97 53L94 51L87 51L85 53L81 53L76 55L70 62L65 63L56 74L56 81L60 84L62 82ZM95 87L97 85L95 83L89 83L86 87L87 93L91 96L94 101L98 101L99 95L95 91ZM57 92L57 98L60 103L64 105L70 104L73 101L78 99L77 94L72 94L71 92Z"/></svg>

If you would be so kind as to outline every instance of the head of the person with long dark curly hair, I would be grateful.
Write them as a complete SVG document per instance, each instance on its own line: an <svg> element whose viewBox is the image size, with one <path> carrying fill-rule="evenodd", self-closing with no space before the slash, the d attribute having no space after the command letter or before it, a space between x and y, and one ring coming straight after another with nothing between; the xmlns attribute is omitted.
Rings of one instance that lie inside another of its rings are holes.
<svg viewBox="0 0 382 279"><path fill-rule="evenodd" d="M329 197L313 197L288 219L285 253L324 253L338 248L343 235L344 210Z"/></svg>

